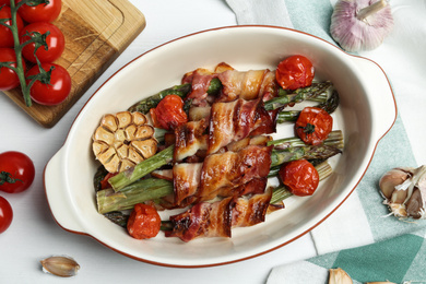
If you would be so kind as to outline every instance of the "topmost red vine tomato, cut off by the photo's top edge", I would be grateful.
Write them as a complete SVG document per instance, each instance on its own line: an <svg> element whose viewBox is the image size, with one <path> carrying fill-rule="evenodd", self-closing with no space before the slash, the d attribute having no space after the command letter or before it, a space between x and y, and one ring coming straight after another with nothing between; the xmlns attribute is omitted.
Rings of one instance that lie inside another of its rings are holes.
<svg viewBox="0 0 426 284"><path fill-rule="evenodd" d="M21 0L15 0L15 3ZM54 22L60 14L62 8L61 0L49 0L48 4L27 5L23 4L17 13L28 23Z"/></svg>

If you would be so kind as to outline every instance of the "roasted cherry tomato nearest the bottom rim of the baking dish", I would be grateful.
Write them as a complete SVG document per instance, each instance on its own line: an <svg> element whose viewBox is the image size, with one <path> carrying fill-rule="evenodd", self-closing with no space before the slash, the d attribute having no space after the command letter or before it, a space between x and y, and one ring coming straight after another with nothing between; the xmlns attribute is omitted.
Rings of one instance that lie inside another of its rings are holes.
<svg viewBox="0 0 426 284"><path fill-rule="evenodd" d="M162 220L156 209L152 205L138 203L127 222L127 230L137 239L155 237L162 225Z"/></svg>

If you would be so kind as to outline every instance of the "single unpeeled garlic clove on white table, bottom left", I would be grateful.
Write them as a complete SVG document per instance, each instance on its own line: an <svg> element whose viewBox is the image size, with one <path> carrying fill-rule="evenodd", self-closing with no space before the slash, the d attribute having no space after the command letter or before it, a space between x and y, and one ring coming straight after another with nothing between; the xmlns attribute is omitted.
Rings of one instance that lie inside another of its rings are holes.
<svg viewBox="0 0 426 284"><path fill-rule="evenodd" d="M79 263L70 257L50 257L40 260L43 271L61 277L75 276L80 269Z"/></svg>

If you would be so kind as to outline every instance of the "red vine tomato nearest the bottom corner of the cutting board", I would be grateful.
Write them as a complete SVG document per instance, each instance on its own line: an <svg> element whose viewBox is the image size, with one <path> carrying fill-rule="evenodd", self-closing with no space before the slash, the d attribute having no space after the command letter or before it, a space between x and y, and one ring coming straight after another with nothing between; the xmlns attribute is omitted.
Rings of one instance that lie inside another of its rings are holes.
<svg viewBox="0 0 426 284"><path fill-rule="evenodd" d="M45 83L42 81L36 81L31 90L31 98L46 106L54 106L62 103L71 92L71 76L68 73L67 69L55 63L43 63L42 68L47 72L50 68L54 67L50 75L50 82ZM39 73L38 66L34 66L26 73L26 76L36 75ZM27 80L29 81L29 80Z"/></svg>

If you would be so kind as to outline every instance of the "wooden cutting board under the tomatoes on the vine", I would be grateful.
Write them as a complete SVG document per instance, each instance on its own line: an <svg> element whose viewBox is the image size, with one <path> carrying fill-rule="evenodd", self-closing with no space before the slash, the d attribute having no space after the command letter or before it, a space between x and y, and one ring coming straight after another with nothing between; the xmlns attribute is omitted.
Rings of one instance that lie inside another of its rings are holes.
<svg viewBox="0 0 426 284"><path fill-rule="evenodd" d="M54 22L66 37L66 49L55 63L72 79L69 97L57 106L33 102L26 107L21 90L4 92L39 125L54 127L95 80L145 27L144 15L126 0L62 0Z"/></svg>

